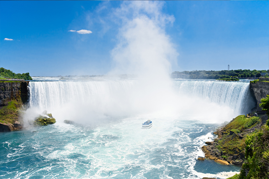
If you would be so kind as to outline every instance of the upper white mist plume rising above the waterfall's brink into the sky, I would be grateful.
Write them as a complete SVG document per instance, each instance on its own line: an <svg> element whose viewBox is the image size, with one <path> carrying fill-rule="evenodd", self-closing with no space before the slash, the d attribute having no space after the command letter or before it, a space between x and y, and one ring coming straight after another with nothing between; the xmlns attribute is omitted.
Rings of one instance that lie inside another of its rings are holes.
<svg viewBox="0 0 269 179"><path fill-rule="evenodd" d="M173 23L174 17L162 14L162 5L160 1L124 1L116 9L123 26L112 50L116 67L111 73L137 74L143 78L169 76L170 62L176 63L178 53L164 29L166 23Z"/></svg>

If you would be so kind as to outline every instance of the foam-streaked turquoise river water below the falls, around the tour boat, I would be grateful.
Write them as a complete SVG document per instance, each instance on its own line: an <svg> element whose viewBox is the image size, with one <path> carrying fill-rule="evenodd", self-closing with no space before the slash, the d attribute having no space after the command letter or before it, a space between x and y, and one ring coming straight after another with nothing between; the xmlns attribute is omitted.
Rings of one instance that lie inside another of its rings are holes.
<svg viewBox="0 0 269 179"><path fill-rule="evenodd" d="M216 125L152 119L145 130L142 121L125 118L93 129L56 122L3 132L0 178L225 178L240 170L196 160Z"/></svg>

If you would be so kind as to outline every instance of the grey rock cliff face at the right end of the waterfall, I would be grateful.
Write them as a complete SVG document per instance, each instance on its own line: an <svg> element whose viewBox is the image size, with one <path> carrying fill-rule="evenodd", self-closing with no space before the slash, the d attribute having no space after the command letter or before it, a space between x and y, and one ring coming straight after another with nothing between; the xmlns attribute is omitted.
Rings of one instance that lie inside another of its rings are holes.
<svg viewBox="0 0 269 179"><path fill-rule="evenodd" d="M257 81L256 83L250 83L250 91L256 98L257 112L264 112L259 104L261 103L261 99L266 98L266 95L269 94L269 82Z"/></svg>

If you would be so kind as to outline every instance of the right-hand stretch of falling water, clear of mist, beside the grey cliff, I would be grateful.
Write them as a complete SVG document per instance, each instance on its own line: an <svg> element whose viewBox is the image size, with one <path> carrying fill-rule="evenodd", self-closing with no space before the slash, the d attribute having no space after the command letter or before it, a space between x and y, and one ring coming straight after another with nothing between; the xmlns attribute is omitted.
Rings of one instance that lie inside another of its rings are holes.
<svg viewBox="0 0 269 179"><path fill-rule="evenodd" d="M175 81L179 93L208 98L221 106L229 106L240 114L249 113L255 107L249 82L234 81Z"/></svg>

